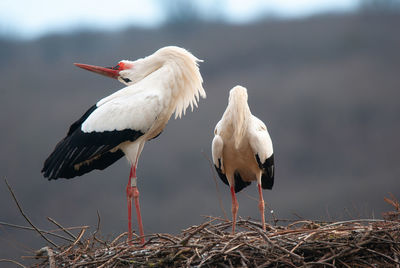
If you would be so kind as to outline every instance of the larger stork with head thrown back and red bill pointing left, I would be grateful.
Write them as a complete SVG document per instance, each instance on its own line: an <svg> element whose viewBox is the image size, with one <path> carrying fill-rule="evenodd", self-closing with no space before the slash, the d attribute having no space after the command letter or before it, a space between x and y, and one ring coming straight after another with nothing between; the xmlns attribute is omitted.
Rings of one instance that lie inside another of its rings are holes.
<svg viewBox="0 0 400 268"><path fill-rule="evenodd" d="M75 64L127 86L98 101L71 125L42 172L49 180L70 179L103 170L125 155L131 164L126 188L129 241L133 197L144 243L136 179L140 153L146 141L160 135L174 112L175 118L181 117L189 105L192 110L197 106L199 96L206 97L199 61L185 49L170 46L136 61L120 61L115 67Z"/></svg>

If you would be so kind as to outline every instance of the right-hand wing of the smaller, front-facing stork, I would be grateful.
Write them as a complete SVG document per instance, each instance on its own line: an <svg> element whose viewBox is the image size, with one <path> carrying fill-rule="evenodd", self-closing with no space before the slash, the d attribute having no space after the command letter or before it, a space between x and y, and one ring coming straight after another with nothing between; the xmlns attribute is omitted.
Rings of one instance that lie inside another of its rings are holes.
<svg viewBox="0 0 400 268"><path fill-rule="evenodd" d="M272 189L275 173L272 141L265 124L255 116L252 116L249 127L249 142L262 170L261 186L263 189Z"/></svg>

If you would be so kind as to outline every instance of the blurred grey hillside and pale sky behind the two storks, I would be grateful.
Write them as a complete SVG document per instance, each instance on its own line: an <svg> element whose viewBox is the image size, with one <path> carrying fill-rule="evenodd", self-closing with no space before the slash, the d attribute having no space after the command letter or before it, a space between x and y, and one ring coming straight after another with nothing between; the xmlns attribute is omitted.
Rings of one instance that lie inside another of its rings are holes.
<svg viewBox="0 0 400 268"><path fill-rule="evenodd" d="M244 4L246 3L246 4ZM0 221L27 225L3 178L40 228L127 231L129 165L72 180L40 170L69 126L122 84L73 66L114 66L177 45L203 59L207 99L148 142L138 167L146 233L178 233L204 215L230 219L229 189L210 166L228 91L248 88L273 139L268 219L381 218L400 190L400 1L10 1L0 3ZM239 216L259 220L253 183ZM136 229L136 219L134 219ZM62 243L62 241L58 241ZM0 225L0 258L44 246ZM26 262L26 260L25 260Z"/></svg>

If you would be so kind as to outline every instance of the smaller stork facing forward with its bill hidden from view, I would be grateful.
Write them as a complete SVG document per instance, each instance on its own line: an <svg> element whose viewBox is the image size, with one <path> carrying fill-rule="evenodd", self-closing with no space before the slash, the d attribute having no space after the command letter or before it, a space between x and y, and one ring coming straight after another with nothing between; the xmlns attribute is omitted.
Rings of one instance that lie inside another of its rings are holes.
<svg viewBox="0 0 400 268"><path fill-rule="evenodd" d="M257 181L259 209L265 231L262 189L274 184L274 153L265 124L251 114L247 90L236 86L229 93L229 103L217 123L212 141L212 157L221 180L230 186L232 195L232 233L235 232L239 204L235 193Z"/></svg>

